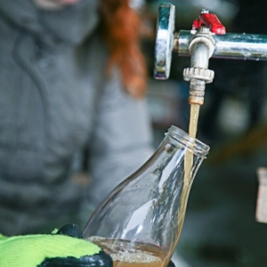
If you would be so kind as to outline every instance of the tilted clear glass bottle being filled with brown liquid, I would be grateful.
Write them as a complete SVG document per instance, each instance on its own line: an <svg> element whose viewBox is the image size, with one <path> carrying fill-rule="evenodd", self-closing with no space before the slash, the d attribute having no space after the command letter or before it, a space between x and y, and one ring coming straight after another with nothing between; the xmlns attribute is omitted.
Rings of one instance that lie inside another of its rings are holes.
<svg viewBox="0 0 267 267"><path fill-rule="evenodd" d="M209 147L171 126L152 157L120 183L85 225L84 237L114 267L163 267L182 231L193 179Z"/></svg>

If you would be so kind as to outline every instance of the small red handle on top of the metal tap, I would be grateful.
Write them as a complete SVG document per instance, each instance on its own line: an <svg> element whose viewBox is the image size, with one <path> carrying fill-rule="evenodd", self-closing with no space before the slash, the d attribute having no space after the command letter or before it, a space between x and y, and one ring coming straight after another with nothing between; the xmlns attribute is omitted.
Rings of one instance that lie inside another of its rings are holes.
<svg viewBox="0 0 267 267"><path fill-rule="evenodd" d="M201 13L199 19L194 20L193 29L200 28L203 25L206 25L214 34L225 35L226 33L225 27L213 13Z"/></svg>

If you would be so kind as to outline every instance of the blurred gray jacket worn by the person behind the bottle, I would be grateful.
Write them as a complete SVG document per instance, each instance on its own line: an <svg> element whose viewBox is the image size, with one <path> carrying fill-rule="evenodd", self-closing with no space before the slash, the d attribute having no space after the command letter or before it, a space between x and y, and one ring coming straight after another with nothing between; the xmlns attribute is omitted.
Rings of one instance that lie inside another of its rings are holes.
<svg viewBox="0 0 267 267"><path fill-rule="evenodd" d="M41 229L84 195L98 205L152 152L145 101L116 69L104 77L98 2L48 12L0 0L0 232ZM88 189L70 178L86 148Z"/></svg>

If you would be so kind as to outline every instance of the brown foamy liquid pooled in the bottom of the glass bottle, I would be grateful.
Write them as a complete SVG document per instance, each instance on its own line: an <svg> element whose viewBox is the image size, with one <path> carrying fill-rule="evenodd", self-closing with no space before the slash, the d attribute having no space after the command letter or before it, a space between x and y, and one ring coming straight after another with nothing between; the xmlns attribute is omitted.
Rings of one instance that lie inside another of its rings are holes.
<svg viewBox="0 0 267 267"><path fill-rule="evenodd" d="M91 237L89 240L112 257L114 267L164 267L166 265L162 260L165 258L162 249L153 245L133 244L130 241L100 237Z"/></svg>

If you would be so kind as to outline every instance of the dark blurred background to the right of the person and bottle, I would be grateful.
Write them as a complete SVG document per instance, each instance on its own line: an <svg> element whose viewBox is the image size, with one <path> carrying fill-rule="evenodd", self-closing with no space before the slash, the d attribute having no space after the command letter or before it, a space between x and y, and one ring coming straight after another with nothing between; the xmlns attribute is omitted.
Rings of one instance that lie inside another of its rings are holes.
<svg viewBox="0 0 267 267"><path fill-rule="evenodd" d="M214 12L227 32L267 34L267 2L176 0L175 31L190 30L202 8ZM173 54L170 78L153 78L158 5L142 10L143 51L150 69L148 101L155 148L170 125L188 132L189 84L182 70L190 58ZM267 167L266 61L209 61L214 82L206 85L197 137L211 147L190 192L177 251L184 266L267 265L267 224L255 219L259 167ZM267 203L266 203L267 205ZM182 264L182 263L181 263ZM182 266L182 265L181 265ZM179 266L177 266L179 267Z"/></svg>

